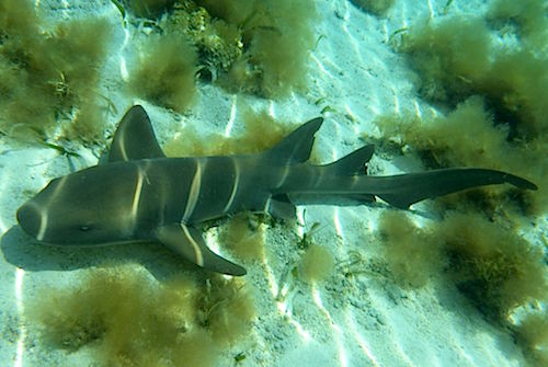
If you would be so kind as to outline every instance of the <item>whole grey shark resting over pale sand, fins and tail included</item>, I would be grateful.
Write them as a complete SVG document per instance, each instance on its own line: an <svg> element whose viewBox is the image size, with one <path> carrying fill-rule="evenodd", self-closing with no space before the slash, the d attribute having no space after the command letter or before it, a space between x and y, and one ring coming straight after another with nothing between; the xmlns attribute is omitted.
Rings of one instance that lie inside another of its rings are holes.
<svg viewBox="0 0 548 367"><path fill-rule="evenodd" d="M24 232L42 244L98 246L160 242L212 272L246 268L212 251L201 223L249 210L288 219L297 205L357 205L380 198L397 208L470 187L537 186L490 169L452 168L373 176L367 145L328 164L308 162L322 117L302 124L277 145L254 154L168 158L140 105L118 124L98 165L52 180L16 211Z"/></svg>

